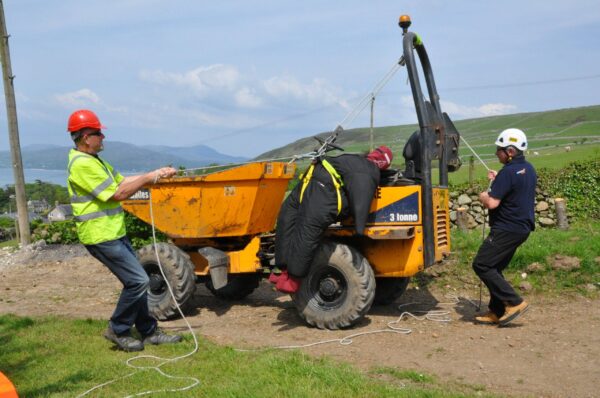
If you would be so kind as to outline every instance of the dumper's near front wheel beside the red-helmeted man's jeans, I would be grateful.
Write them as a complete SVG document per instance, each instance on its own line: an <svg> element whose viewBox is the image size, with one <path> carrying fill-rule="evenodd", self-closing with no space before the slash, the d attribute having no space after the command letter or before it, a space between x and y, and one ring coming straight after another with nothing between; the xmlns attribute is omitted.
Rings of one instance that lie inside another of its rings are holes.
<svg viewBox="0 0 600 398"><path fill-rule="evenodd" d="M192 306L191 298L196 289L194 264L185 252L169 243L157 243L156 250L177 303L182 311L186 311ZM150 278L150 287L148 288L150 313L161 321L178 316L177 305L160 272L153 245L144 246L138 250L138 259Z"/></svg>

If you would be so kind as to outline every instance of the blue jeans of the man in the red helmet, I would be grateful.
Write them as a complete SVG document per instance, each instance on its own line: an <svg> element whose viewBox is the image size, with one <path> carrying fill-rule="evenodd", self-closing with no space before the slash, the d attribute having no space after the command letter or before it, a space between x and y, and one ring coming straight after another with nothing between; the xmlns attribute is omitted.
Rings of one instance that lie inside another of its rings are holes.
<svg viewBox="0 0 600 398"><path fill-rule="evenodd" d="M110 326L117 334L129 333L135 325L143 336L156 329L156 319L148 311L148 286L150 280L138 261L129 239L120 239L86 245L88 252L104 264L123 284Z"/></svg>

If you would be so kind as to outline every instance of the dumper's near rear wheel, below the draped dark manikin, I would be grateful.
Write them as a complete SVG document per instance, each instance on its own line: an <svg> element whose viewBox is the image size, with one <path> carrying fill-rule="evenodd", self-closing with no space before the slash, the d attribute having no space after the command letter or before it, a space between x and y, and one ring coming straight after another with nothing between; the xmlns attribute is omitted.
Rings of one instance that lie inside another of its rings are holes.
<svg viewBox="0 0 600 398"><path fill-rule="evenodd" d="M375 277L369 262L355 249L323 242L308 275L292 299L300 316L319 329L350 327L371 308Z"/></svg>

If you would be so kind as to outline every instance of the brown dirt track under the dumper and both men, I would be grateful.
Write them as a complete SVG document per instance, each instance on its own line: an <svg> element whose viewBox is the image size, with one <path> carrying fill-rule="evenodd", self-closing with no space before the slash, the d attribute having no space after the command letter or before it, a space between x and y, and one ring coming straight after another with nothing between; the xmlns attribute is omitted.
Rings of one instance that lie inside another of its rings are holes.
<svg viewBox="0 0 600 398"><path fill-rule="evenodd" d="M0 313L108 319L120 291L118 281L81 247L16 254L0 253ZM532 309L511 327L474 325L475 289L452 292L409 287L394 305L374 307L351 330L306 327L288 296L263 282L243 301L223 302L199 286L192 326L202 336L240 348L302 345L385 329L401 311L447 310L450 322L404 319L410 334L380 333L303 348L363 369L387 366L482 385L510 396L600 396L600 300L564 301L528 297ZM419 303L398 306L403 303ZM448 304L443 304L448 303ZM164 323L180 329L181 320Z"/></svg>

